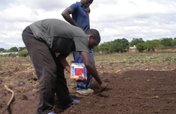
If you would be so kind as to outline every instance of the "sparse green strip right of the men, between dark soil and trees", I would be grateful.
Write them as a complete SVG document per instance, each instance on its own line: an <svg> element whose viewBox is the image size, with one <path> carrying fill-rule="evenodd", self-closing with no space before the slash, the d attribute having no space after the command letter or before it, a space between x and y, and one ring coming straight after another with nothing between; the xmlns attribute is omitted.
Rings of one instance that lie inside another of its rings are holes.
<svg viewBox="0 0 176 114"><path fill-rule="evenodd" d="M122 53L122 54L95 54L97 66L111 65L114 70L172 70L175 68L175 53ZM169 65L169 67L168 67ZM166 67L167 66L167 67Z"/></svg>

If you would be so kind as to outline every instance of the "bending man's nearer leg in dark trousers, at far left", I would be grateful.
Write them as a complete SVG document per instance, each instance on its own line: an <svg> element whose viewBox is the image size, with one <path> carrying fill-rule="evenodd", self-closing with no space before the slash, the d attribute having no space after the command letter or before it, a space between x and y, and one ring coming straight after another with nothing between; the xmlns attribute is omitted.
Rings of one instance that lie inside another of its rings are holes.
<svg viewBox="0 0 176 114"><path fill-rule="evenodd" d="M30 28L23 32L22 37L39 79L40 102L37 113L48 114L54 105L56 63L47 45L34 39Z"/></svg>

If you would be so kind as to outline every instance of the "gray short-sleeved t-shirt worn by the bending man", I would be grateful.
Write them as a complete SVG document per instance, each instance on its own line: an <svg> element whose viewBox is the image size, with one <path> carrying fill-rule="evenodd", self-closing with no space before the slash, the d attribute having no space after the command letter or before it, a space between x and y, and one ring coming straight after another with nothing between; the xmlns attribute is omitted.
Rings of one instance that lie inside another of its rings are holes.
<svg viewBox="0 0 176 114"><path fill-rule="evenodd" d="M29 27L31 28L35 38L37 40L44 41L49 48L60 45L58 43L60 41L57 42L58 39L69 39L74 42L75 51L89 52L88 39L85 32L79 27L75 27L59 19L40 20L29 25ZM66 42L67 40L63 41L64 43L62 44L69 45L69 42ZM66 46L64 48L70 47ZM63 51L64 49L61 49L61 52ZM60 52L60 50L56 52Z"/></svg>

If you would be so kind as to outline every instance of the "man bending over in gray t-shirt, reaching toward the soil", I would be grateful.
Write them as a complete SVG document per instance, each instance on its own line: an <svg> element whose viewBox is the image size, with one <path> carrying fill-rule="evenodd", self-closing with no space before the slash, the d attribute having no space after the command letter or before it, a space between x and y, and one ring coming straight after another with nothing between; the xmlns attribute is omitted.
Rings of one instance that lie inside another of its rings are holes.
<svg viewBox="0 0 176 114"><path fill-rule="evenodd" d="M98 82L100 91L106 88L106 83L100 79L88 53L101 40L97 30L84 32L59 19L44 19L27 26L22 38L39 80L40 102L37 114L53 114L55 93L63 108L72 104L73 99L64 76L64 69L70 72L66 57L72 51L81 54L87 71ZM55 53L59 53L58 57Z"/></svg>

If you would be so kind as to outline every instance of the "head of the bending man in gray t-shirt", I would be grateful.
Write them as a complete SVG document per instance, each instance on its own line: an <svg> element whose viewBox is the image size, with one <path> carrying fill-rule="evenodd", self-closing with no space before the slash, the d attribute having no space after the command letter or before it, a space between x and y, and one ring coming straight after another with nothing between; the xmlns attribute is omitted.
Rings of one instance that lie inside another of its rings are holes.
<svg viewBox="0 0 176 114"><path fill-rule="evenodd" d="M86 31L86 34L88 38L89 49L93 49L94 46L97 46L100 43L101 37L96 29L89 29Z"/></svg>

